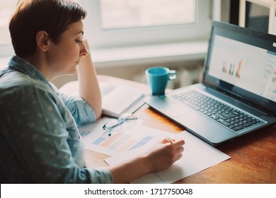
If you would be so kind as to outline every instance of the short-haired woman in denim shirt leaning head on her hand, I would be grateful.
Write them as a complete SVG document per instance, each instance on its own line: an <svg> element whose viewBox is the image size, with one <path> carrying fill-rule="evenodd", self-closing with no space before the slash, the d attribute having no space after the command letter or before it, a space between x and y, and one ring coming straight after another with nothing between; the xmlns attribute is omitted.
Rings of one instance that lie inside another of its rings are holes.
<svg viewBox="0 0 276 198"><path fill-rule="evenodd" d="M23 0L13 13L9 29L16 55L0 74L1 183L125 183L182 157L180 140L116 167L84 168L77 124L93 122L102 112L83 37L85 17L84 8L67 0ZM76 70L81 99L49 83Z"/></svg>

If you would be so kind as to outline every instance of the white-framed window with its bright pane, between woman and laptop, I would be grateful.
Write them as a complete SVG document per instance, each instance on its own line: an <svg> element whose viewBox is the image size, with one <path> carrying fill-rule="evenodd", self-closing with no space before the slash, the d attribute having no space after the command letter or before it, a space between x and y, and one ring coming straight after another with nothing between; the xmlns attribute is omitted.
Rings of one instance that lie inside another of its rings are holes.
<svg viewBox="0 0 276 198"><path fill-rule="evenodd" d="M211 0L79 1L88 10L85 37L93 48L207 40L209 37Z"/></svg>

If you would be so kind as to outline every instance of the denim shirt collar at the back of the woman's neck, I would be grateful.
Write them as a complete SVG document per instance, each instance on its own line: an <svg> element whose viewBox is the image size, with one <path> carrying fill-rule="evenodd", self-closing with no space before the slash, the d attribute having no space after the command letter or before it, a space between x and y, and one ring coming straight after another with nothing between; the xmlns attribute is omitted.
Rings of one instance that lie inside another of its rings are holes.
<svg viewBox="0 0 276 198"><path fill-rule="evenodd" d="M8 62L8 67L20 71L21 73L30 76L30 78L49 84L45 76L43 76L43 74L33 66L33 64L30 64L21 57L16 55L11 57L11 60Z"/></svg>

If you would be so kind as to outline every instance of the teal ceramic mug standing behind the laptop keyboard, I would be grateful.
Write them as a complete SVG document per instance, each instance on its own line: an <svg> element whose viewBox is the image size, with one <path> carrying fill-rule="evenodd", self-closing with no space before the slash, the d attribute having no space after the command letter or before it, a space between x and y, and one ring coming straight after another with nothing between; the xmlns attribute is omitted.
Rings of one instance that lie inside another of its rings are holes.
<svg viewBox="0 0 276 198"><path fill-rule="evenodd" d="M168 81L176 79L177 72L164 66L146 69L146 81L151 87L152 95L164 95Z"/></svg>

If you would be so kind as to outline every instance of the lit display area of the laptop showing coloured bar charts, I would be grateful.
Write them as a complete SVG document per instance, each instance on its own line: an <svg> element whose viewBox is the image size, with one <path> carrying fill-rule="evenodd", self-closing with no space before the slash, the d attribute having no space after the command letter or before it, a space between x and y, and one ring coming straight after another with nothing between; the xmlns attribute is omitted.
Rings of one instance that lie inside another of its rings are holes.
<svg viewBox="0 0 276 198"><path fill-rule="evenodd" d="M276 52L214 35L212 54L210 76L276 102Z"/></svg>

